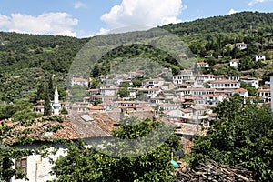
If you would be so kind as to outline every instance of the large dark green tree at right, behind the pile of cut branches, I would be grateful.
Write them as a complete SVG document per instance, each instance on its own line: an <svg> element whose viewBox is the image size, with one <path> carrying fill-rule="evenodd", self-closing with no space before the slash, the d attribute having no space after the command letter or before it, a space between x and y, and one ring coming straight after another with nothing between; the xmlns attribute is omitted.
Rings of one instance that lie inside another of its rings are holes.
<svg viewBox="0 0 273 182"><path fill-rule="evenodd" d="M242 105L232 96L217 106L217 120L207 136L196 136L192 148L194 162L211 158L220 163L253 170L258 181L273 180L273 120L270 108L255 103Z"/></svg>

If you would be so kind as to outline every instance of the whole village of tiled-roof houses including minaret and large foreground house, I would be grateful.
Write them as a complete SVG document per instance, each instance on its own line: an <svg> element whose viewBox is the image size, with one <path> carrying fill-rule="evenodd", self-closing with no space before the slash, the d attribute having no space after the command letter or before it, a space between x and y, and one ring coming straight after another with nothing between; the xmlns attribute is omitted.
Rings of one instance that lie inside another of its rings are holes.
<svg viewBox="0 0 273 182"><path fill-rule="evenodd" d="M235 60L230 60L233 66ZM138 118L160 118L177 126L176 134L181 136L184 148L189 150L190 139L194 135L206 135L207 128L217 117L213 109L219 102L228 99L229 96L242 97L257 101L259 105L270 105L271 95L269 83L261 86L258 79L246 76L214 76L199 73L200 67L209 67L207 63L196 63L193 69L181 70L179 75L167 81L161 77L146 78L143 71L130 72L127 74L114 74L98 76L99 84L90 89L92 79L86 80L74 77L72 86L83 86L86 96L81 102L60 102L57 87L55 98L51 102L53 116L59 116L62 109L66 109L69 116L62 116L65 123L63 128L56 133L45 132L41 134L49 138L83 138L87 146L101 142L100 138L106 139L111 136L111 130L118 126L121 119L131 116ZM162 73L167 73L163 69ZM132 80L141 79L141 86L134 86ZM248 90L242 88L241 83L247 83L258 89L258 96L248 96ZM126 96L120 95L121 86L126 86ZM35 112L43 112L43 101L34 106ZM49 122L50 123L50 122ZM56 124L46 124L47 127ZM45 124L44 124L45 125ZM16 144L15 144L16 146ZM19 146L20 147L20 146ZM63 155L64 148L52 158ZM29 178L39 178L41 181L52 179L49 175L52 165L48 158L36 164L40 156L28 157L27 167ZM32 166L36 165L36 173L31 172ZM35 175L34 175L35 174ZM20 181L20 180L15 180Z"/></svg>

